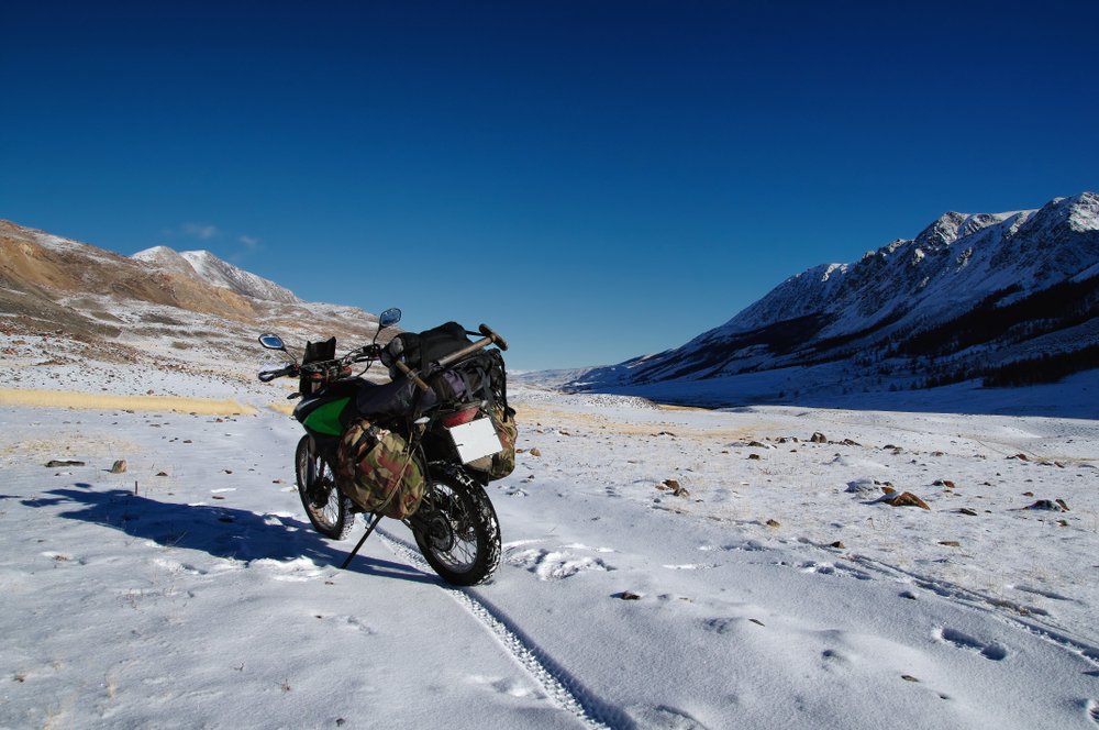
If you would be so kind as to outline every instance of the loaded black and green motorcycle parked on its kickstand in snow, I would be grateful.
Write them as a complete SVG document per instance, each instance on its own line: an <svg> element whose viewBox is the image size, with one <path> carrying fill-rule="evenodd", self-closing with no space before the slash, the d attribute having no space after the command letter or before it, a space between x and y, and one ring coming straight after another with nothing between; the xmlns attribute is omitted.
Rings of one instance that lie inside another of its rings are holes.
<svg viewBox="0 0 1099 730"><path fill-rule="evenodd" d="M459 325L451 323L463 335L454 341L458 347L410 366L400 349L393 353L395 342L389 347L378 344L378 335L400 321L400 317L401 311L396 308L382 312L374 341L342 357L334 356L334 338L322 343L308 342L298 362L281 338L263 334L260 344L280 351L289 362L285 367L260 372L259 379L269 383L278 377L299 378L299 391L289 398L301 399L293 409L293 418L302 424L306 435L298 443L295 471L301 504L313 528L340 540L351 530L357 512L367 515L366 534L341 567L347 566L385 516L381 510L368 512L340 484L343 482L337 461L341 438L355 419L366 418L371 424L401 434L424 476L419 507L402 521L411 529L428 563L447 583L463 586L482 583L500 561L500 524L485 491L489 476L482 471L486 460L501 450L497 432L490 425L488 403L492 394L486 391L487 386L470 387L455 398L452 389L442 388L444 392L440 392L439 384L445 385L444 376L453 381L454 372L487 354L493 355L500 364L499 375L506 377L499 353L482 351L490 345L507 350L508 345L485 324L478 333L462 333ZM468 334L482 336L471 342L464 336ZM378 385L362 377L379 360L396 375L390 383ZM363 369L353 375L353 367L364 363ZM429 380L434 385L429 385ZM501 385L498 384L498 391ZM508 412L506 390L503 400L503 410ZM477 435L459 439L456 435L459 430L463 434L467 430L477 431ZM491 435L486 439L486 433ZM475 468L478 465L480 471Z"/></svg>

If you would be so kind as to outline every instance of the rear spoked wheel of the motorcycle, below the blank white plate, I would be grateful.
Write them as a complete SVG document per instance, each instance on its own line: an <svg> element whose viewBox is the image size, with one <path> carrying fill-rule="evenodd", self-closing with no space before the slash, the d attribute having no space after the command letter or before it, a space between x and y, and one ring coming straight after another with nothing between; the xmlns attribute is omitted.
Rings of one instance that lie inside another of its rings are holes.
<svg viewBox="0 0 1099 730"><path fill-rule="evenodd" d="M410 524L432 569L452 585L484 583L500 563L496 509L460 469L434 471Z"/></svg>

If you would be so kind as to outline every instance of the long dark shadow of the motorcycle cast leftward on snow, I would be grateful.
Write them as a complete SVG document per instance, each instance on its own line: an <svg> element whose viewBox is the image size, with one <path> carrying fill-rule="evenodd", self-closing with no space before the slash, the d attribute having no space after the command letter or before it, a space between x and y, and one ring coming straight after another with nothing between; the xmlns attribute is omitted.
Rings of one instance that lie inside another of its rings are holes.
<svg viewBox="0 0 1099 730"><path fill-rule="evenodd" d="M132 538L151 540L165 548L197 550L214 557L240 561L290 562L307 558L319 567L335 568L351 552L318 535L312 527L292 517L257 515L221 505L185 505L135 495L123 489L99 491L90 484L76 488L53 489L35 499L24 499L27 507L71 506L58 517L113 528ZM359 554L348 573L378 577L439 583L439 578L411 565Z"/></svg>

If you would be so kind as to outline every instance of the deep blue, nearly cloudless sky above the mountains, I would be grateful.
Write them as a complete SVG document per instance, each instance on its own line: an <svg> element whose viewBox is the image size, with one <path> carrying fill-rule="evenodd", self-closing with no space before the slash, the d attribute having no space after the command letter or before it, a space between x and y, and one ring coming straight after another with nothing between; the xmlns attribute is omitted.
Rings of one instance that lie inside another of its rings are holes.
<svg viewBox="0 0 1099 730"><path fill-rule="evenodd" d="M1095 0L27 0L0 27L0 218L485 321L515 368L1099 189Z"/></svg>

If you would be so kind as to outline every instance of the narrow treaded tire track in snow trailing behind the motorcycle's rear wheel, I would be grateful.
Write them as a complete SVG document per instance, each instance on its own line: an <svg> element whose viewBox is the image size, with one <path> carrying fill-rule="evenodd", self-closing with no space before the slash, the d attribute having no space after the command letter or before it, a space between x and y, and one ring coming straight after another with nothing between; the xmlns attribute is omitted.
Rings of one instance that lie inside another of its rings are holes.
<svg viewBox="0 0 1099 730"><path fill-rule="evenodd" d="M377 533L392 553L434 574L419 549L381 528ZM584 727L591 730L633 730L635 725L624 712L595 697L567 670L540 650L502 611L484 598L474 596L469 589L453 588L442 582L439 586L496 635L552 703L576 717Z"/></svg>

